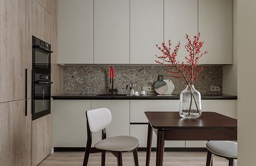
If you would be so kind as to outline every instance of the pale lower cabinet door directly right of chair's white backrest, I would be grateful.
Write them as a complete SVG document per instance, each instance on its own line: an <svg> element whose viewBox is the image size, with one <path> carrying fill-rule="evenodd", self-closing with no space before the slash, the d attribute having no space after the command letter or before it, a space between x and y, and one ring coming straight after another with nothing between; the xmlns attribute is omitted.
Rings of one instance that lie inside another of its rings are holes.
<svg viewBox="0 0 256 166"><path fill-rule="evenodd" d="M130 136L130 101L129 100L92 100L92 109L108 108L112 121L106 128L107 137Z"/></svg>

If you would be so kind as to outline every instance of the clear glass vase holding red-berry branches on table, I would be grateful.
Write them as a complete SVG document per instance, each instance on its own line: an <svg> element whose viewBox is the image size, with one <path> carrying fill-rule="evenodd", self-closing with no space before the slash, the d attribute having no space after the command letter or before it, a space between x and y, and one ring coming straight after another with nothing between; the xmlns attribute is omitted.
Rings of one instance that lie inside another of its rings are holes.
<svg viewBox="0 0 256 166"><path fill-rule="evenodd" d="M179 113L181 117L189 119L201 116L201 94L194 85L187 85L186 89L180 92Z"/></svg>

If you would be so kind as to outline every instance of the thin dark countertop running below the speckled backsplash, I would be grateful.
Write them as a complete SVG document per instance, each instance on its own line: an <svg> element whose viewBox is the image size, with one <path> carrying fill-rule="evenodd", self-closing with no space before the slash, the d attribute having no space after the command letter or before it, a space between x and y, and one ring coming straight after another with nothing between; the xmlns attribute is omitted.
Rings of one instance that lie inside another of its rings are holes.
<svg viewBox="0 0 256 166"><path fill-rule="evenodd" d="M145 96L97 96L95 94L63 94L52 96L53 100L179 100L179 95L145 95ZM206 95L202 100L237 100L234 95Z"/></svg>

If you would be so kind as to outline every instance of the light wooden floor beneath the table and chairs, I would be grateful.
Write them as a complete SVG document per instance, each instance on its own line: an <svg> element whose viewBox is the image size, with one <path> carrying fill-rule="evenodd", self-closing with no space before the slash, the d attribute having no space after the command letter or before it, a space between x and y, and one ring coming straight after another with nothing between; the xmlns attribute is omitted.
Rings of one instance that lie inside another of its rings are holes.
<svg viewBox="0 0 256 166"><path fill-rule="evenodd" d="M81 152L56 152L49 155L39 166L81 166L83 161ZM139 152L140 165L145 165L146 153ZM206 152L165 152L164 165L168 166L203 166L205 165ZM100 164L100 153L90 154L89 166L98 166ZM123 153L124 166L134 165L132 153ZM117 160L111 153L106 154L106 165L117 165ZM151 164L155 165L155 153L152 152ZM228 166L226 159L214 156L214 166Z"/></svg>

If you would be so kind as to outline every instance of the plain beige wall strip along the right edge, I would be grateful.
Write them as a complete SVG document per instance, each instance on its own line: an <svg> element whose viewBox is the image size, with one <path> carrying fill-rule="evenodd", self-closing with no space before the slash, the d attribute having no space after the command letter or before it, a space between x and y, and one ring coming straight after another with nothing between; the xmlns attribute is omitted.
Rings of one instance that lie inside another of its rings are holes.
<svg viewBox="0 0 256 166"><path fill-rule="evenodd" d="M237 0L238 165L256 165L256 1Z"/></svg>

